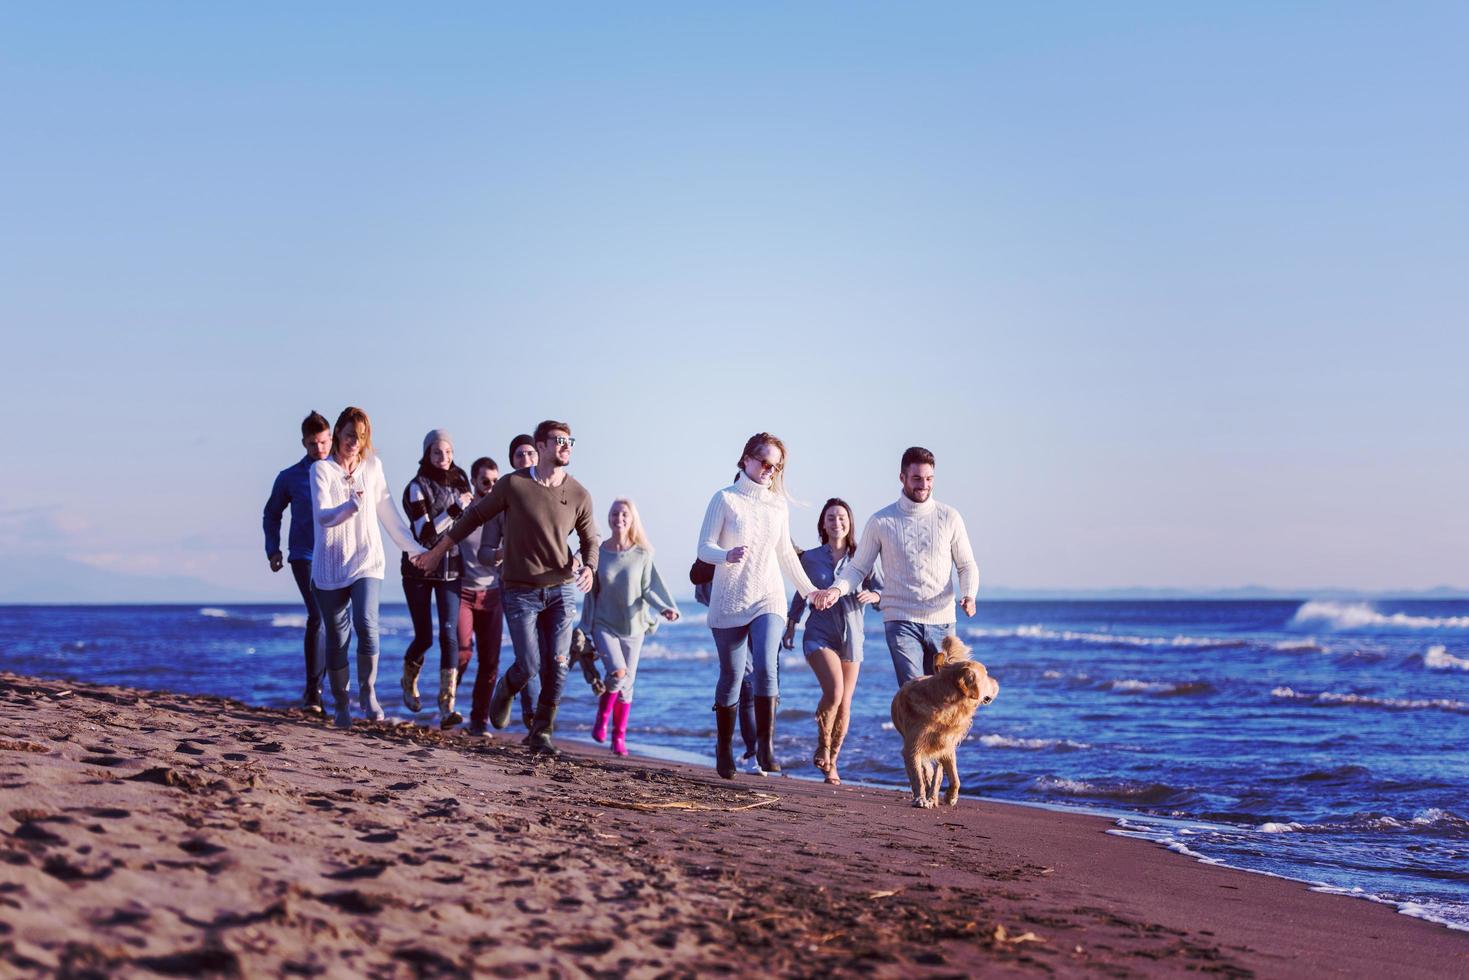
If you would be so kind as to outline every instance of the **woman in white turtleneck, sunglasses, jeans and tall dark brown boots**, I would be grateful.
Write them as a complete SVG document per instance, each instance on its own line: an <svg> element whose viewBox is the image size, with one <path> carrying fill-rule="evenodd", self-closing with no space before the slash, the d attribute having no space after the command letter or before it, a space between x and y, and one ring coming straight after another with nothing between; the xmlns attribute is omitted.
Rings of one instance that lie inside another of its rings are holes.
<svg viewBox="0 0 1469 980"><path fill-rule="evenodd" d="M780 771L774 751L780 695L776 660L786 613L780 573L817 608L836 599L830 589L818 591L811 583L790 544L786 445L768 432L758 432L745 442L737 466L734 482L710 501L699 532L699 558L714 566L710 630L720 654L720 680L714 689L715 764L724 779L734 779L730 742L739 682L745 676L746 638L755 658L755 758L764 771Z"/></svg>

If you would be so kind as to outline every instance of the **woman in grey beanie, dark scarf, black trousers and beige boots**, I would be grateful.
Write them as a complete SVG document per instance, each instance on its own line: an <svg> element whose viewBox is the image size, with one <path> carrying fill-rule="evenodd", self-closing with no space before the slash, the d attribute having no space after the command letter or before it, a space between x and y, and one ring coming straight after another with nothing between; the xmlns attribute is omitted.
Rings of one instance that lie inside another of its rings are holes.
<svg viewBox="0 0 1469 980"><path fill-rule="evenodd" d="M432 429L423 436L423 457L419 472L403 491L403 510L413 525L413 536L425 550L439 541L473 495L469 476L454 466L454 439L444 429ZM413 642L403 654L403 702L408 711L419 711L419 671L423 654L433 646L433 611L439 616L439 727L452 729L464 720L454 710L454 689L458 685L458 577L460 552L450 548L429 572L403 558L403 597L413 620Z"/></svg>

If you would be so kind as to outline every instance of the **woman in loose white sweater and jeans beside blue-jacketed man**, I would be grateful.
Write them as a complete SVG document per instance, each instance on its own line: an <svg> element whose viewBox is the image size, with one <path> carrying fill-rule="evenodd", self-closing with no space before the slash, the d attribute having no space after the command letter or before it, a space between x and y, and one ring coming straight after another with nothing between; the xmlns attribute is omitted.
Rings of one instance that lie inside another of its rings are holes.
<svg viewBox="0 0 1469 980"><path fill-rule="evenodd" d="M378 679L378 597L383 552L378 523L408 554L423 554L388 495L382 463L372 448L372 422L361 408L344 408L332 428L332 454L311 464L311 589L326 630L326 674L336 702L336 727L353 724L347 642L357 630L357 685L363 713L382 720L373 691ZM348 608L351 617L348 620Z"/></svg>

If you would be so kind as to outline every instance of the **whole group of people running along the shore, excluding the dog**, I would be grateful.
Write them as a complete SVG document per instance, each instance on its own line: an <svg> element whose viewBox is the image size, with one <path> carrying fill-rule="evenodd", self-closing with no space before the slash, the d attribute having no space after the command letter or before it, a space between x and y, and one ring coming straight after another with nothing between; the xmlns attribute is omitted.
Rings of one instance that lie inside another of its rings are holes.
<svg viewBox="0 0 1469 980"><path fill-rule="evenodd" d="M601 539L591 494L567 472L576 444L570 425L546 420L516 436L504 476L489 457L474 460L466 475L454 463L451 435L430 430L401 513L373 451L366 411L344 408L335 425L313 411L301 423L301 442L306 457L279 473L266 502L264 533L272 570L289 561L307 608L308 711L325 713L325 676L335 724L351 726L348 645L355 632L358 707L369 718L383 718L376 698L382 527L403 551L413 641L404 651L401 686L410 711L423 707L417 680L435 642L436 616L441 727L464 721L455 710L457 688L477 652L467 732L504 729L519 696L526 743L533 752L557 754L552 735L580 624L605 670L592 735L599 742L610 738L614 752L627 754L643 638L660 620L677 620L679 607L654 564L633 501L613 502L610 533ZM862 663L864 607L883 614L902 685L931 673L939 644L953 633L955 572L967 616L974 614L978 576L962 519L933 500L934 457L927 450L903 453L902 495L873 514L861 538L853 535L852 508L831 498L817 522L820 547L804 552L790 536L786 458L777 436L751 436L734 480L714 494L699 532L690 579L710 607L718 651L715 763L721 777L734 777L743 689L754 714L746 757L754 754L759 771L780 771L777 661L782 646L795 645L809 607L802 651L821 685L812 763L827 782L839 783L837 755ZM282 554L281 519L288 507L291 530ZM789 604L782 574L795 585ZM499 670L502 624L514 651L505 671Z"/></svg>

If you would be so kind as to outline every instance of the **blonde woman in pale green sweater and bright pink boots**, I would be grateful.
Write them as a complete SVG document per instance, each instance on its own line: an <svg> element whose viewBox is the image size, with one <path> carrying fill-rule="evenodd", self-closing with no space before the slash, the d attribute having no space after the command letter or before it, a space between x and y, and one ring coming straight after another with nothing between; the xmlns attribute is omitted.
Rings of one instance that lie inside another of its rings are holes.
<svg viewBox="0 0 1469 980"><path fill-rule="evenodd" d="M607 692L596 705L592 738L605 742L611 723L613 752L627 755L627 714L643 636L657 629L660 616L677 620L679 605L652 563L638 507L626 498L614 500L607 525L613 533L602 542L596 583L582 605L582 632L596 644L607 670Z"/></svg>

